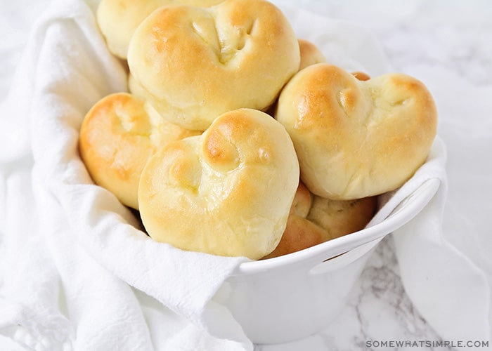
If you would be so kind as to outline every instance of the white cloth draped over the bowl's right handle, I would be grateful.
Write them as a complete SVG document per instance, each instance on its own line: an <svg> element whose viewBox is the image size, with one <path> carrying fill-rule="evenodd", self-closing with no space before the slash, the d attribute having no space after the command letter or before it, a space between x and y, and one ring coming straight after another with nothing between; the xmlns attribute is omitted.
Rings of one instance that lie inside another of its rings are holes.
<svg viewBox="0 0 492 351"><path fill-rule="evenodd" d="M448 190L446 157L446 146L438 137L427 163L413 178L396 192L381 197L387 202L368 226L389 216L426 180L441 181L431 202L392 235L407 295L439 336L458 346L458 340L490 340L490 290L484 272L443 234Z"/></svg>

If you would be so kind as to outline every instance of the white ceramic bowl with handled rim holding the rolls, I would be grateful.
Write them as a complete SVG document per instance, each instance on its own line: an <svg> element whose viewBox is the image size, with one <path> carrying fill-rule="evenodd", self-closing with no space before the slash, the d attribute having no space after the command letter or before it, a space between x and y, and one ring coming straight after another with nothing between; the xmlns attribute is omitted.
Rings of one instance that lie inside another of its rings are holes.
<svg viewBox="0 0 492 351"><path fill-rule="evenodd" d="M214 297L254 343L285 343L337 317L377 243L422 211L439 187L422 183L381 223L296 253L242 263Z"/></svg>

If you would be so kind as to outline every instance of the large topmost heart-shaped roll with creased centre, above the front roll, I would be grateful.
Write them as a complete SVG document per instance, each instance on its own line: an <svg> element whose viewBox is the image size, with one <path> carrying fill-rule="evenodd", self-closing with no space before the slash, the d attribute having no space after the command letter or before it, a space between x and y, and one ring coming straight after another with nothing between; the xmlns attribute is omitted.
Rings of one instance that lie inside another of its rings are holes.
<svg viewBox="0 0 492 351"><path fill-rule="evenodd" d="M230 110L266 110L299 61L290 23L265 0L165 6L137 27L128 51L130 72L156 110L202 131Z"/></svg>

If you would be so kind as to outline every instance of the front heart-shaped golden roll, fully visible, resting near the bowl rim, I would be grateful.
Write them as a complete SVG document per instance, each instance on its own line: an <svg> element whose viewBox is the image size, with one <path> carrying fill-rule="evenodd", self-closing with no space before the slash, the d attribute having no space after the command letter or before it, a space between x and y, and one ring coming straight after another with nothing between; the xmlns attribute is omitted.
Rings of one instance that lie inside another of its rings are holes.
<svg viewBox="0 0 492 351"><path fill-rule="evenodd" d="M138 203L156 241L255 260L280 241L298 181L285 128L264 112L240 109L156 152L143 170Z"/></svg>

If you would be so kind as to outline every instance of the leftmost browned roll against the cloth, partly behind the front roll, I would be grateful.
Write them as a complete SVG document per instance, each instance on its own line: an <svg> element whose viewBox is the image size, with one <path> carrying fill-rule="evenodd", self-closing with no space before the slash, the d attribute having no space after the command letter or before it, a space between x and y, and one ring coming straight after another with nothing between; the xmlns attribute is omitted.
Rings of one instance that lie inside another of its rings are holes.
<svg viewBox="0 0 492 351"><path fill-rule="evenodd" d="M141 98L114 93L87 112L79 152L96 184L138 209L138 180L150 155L171 140L197 133L165 121Z"/></svg>

